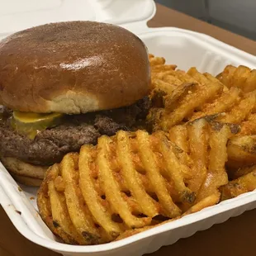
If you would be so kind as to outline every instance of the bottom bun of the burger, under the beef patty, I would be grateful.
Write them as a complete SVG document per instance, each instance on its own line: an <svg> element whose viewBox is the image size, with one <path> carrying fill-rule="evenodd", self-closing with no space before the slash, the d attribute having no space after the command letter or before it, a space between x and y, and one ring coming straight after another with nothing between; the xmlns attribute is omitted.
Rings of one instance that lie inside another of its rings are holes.
<svg viewBox="0 0 256 256"><path fill-rule="evenodd" d="M38 187L45 177L48 166L27 164L16 158L1 157L2 164L18 183Z"/></svg>

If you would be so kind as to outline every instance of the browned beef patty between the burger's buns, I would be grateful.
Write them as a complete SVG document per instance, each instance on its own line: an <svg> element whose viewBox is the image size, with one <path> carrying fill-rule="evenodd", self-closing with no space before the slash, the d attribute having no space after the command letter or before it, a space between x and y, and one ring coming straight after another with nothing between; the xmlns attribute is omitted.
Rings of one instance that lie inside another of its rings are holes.
<svg viewBox="0 0 256 256"><path fill-rule="evenodd" d="M101 135L115 135L117 130L136 130L141 126L145 128L149 105L149 98L145 97L130 107L66 116L62 125L40 131L34 140L13 130L8 118L12 111L1 107L0 154L30 164L58 163L64 154L78 151L84 144L95 145Z"/></svg>

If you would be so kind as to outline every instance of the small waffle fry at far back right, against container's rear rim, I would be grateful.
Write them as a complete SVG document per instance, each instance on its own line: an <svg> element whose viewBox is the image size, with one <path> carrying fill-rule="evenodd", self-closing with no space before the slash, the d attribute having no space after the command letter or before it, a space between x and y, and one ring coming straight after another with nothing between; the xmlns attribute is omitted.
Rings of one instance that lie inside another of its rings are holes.
<svg viewBox="0 0 256 256"><path fill-rule="evenodd" d="M244 92L252 92L256 90L256 70L249 69L244 66L235 68L232 65L225 67L217 78L221 83L224 83L228 88L237 87Z"/></svg>

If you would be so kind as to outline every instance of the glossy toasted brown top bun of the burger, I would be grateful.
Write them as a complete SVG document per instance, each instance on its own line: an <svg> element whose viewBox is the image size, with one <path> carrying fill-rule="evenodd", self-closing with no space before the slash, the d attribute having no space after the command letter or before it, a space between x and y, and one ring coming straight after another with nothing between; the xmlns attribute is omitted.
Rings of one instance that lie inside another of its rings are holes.
<svg viewBox="0 0 256 256"><path fill-rule="evenodd" d="M36 26L0 42L0 104L67 114L134 103L149 92L144 43L119 26L70 21Z"/></svg>

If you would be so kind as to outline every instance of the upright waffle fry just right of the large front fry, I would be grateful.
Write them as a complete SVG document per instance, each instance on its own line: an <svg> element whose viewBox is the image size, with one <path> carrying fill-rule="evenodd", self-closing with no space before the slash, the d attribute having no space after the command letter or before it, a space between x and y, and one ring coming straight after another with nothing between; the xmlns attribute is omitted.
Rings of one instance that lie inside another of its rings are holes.
<svg viewBox="0 0 256 256"><path fill-rule="evenodd" d="M219 187L228 183L226 144L232 133L238 131L238 126L216 122L210 116L169 130L170 140L177 143L192 161L191 178L186 183L196 192L198 202L217 194Z"/></svg>

